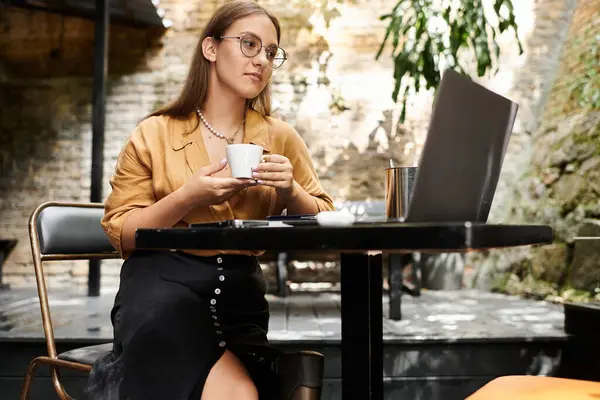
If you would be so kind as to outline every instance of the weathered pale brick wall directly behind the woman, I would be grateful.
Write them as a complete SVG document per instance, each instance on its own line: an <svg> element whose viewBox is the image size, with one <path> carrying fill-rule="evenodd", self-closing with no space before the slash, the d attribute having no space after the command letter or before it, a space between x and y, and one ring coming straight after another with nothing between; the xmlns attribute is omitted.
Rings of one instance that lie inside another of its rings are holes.
<svg viewBox="0 0 600 400"><path fill-rule="evenodd" d="M379 16L395 0L265 0L282 21L290 60L274 76L275 115L307 142L325 188L337 199L383 197L383 168L418 160L431 93L411 99L404 125L391 101L393 67L374 56L385 32ZM104 192L136 122L179 91L204 22L222 3L161 0L166 32L111 27ZM492 213L500 218L508 182L529 160L535 129L575 0L515 2L525 54L500 38L500 72L481 79L521 105ZM0 11L0 236L19 239L5 280L33 283L27 218L46 200L87 201L90 168L90 21L7 7ZM118 262L105 263L114 285ZM85 264L49 269L50 283L85 282Z"/></svg>

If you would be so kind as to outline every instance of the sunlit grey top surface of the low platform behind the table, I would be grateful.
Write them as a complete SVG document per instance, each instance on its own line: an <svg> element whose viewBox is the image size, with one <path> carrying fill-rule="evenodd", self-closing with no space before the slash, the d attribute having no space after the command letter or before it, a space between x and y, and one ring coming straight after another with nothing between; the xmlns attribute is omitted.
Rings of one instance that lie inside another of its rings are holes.
<svg viewBox="0 0 600 400"><path fill-rule="evenodd" d="M50 292L57 340L111 340L109 311L113 296L112 293L86 297ZM340 340L339 294L267 297L271 307L271 340ZM387 296L383 298L383 307L386 341L565 337L560 305L502 294L460 290L423 291L420 297L404 296L401 321L387 318ZM0 340L25 338L43 338L37 292L35 289L0 291Z"/></svg>

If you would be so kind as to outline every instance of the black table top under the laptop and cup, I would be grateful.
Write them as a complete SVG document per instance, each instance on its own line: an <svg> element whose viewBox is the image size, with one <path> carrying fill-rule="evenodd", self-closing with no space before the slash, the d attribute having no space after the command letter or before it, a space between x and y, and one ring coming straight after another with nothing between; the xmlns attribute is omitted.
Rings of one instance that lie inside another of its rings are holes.
<svg viewBox="0 0 600 400"><path fill-rule="evenodd" d="M348 227L264 226L138 229L139 249L463 252L547 244L546 225L374 223Z"/></svg>

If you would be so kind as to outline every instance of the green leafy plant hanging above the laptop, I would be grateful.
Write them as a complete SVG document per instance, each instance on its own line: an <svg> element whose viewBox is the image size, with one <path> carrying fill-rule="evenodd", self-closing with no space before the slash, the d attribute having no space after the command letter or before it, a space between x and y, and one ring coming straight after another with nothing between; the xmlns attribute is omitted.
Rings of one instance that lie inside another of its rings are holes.
<svg viewBox="0 0 600 400"><path fill-rule="evenodd" d="M397 102L403 90L401 121L411 91L418 93L423 85L426 90L437 89L440 71L445 69L466 74L461 50L470 49L474 55L478 76L497 71L494 63L500 47L496 38L505 30L514 30L519 52L523 52L512 1L493 1L494 22L484 12L482 0L399 0L391 13L380 17L390 22L375 59L391 40L395 80L392 99Z"/></svg>

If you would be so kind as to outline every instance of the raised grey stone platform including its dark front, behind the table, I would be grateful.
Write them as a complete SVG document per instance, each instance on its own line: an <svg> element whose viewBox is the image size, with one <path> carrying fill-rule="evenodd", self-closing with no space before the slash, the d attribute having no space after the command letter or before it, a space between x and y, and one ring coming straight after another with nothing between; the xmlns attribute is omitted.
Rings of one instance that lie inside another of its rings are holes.
<svg viewBox="0 0 600 400"><path fill-rule="evenodd" d="M114 293L86 297L50 292L59 351L112 338ZM340 296L337 293L268 296L269 337L284 351L325 355L323 399L341 399ZM387 296L383 298L388 315ZM491 379L509 374L557 375L568 337L560 305L501 294L424 291L403 297L403 319L384 317L385 399L464 399ZM18 398L28 362L46 354L35 289L0 291L0 398ZM81 398L85 376L64 374ZM40 368L31 399L54 399Z"/></svg>

